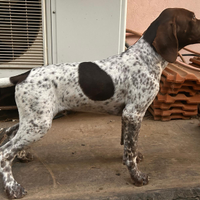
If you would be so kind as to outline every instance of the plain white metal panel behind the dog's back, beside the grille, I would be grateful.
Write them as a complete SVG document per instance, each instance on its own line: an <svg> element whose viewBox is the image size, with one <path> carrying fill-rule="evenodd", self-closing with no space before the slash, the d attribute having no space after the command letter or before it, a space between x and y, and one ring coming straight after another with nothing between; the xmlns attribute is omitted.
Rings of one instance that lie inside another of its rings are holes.
<svg viewBox="0 0 200 200"><path fill-rule="evenodd" d="M126 0L52 0L53 63L102 59L124 50Z"/></svg>

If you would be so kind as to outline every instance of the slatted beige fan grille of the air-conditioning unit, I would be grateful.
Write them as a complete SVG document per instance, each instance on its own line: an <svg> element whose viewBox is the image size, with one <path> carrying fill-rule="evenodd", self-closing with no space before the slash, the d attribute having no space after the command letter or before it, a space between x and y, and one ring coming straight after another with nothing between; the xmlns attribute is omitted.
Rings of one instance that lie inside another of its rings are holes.
<svg viewBox="0 0 200 200"><path fill-rule="evenodd" d="M41 0L0 1L0 67L41 65Z"/></svg>

